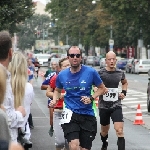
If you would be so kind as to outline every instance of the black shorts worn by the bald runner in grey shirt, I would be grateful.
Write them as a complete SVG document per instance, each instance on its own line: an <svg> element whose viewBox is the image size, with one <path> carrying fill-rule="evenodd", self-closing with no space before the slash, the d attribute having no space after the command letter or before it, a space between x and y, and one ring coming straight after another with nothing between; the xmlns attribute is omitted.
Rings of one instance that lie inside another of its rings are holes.
<svg viewBox="0 0 150 150"><path fill-rule="evenodd" d="M100 124L103 126L110 124L110 117L111 117L113 123L114 122L124 122L121 107L108 108L108 109L99 108L99 116L100 116Z"/></svg>

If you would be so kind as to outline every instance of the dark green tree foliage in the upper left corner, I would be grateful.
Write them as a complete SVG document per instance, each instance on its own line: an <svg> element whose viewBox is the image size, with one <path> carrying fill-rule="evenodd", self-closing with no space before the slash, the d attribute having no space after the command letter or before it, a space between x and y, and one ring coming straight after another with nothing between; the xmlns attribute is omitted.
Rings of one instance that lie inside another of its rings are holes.
<svg viewBox="0 0 150 150"><path fill-rule="evenodd" d="M17 24L34 13L32 0L0 0L0 30L17 31Z"/></svg>

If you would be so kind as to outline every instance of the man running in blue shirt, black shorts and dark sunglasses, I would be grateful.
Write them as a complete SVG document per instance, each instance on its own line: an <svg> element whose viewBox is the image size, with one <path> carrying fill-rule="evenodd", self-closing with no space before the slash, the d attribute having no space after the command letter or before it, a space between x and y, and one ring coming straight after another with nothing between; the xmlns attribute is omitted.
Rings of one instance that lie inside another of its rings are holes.
<svg viewBox="0 0 150 150"><path fill-rule="evenodd" d="M69 148L90 150L97 133L93 101L99 95L107 93L107 89L94 68L81 65L82 51L77 46L69 48L67 56L71 67L58 74L50 106L53 107L57 103L61 89L64 89L65 108L60 124ZM98 90L91 96L93 85Z"/></svg>

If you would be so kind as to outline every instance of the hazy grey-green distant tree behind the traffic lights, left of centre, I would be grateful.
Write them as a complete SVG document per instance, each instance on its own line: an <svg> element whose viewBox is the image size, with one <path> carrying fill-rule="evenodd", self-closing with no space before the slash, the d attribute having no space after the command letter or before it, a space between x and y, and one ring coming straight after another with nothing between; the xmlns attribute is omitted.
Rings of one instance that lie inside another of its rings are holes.
<svg viewBox="0 0 150 150"><path fill-rule="evenodd" d="M27 18L18 27L18 48L25 50L35 45L36 40L45 40L49 37L50 17L48 15L35 14ZM39 34L39 35L38 35Z"/></svg>

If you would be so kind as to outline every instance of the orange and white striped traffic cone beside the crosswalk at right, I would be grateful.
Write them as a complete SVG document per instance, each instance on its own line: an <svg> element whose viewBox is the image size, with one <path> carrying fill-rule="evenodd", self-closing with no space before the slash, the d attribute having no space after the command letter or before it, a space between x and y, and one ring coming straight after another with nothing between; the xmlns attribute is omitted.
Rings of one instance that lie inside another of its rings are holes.
<svg viewBox="0 0 150 150"><path fill-rule="evenodd" d="M134 121L133 124L134 125L143 125L143 124L145 124L143 119L142 119L142 112L141 112L140 104L138 104L137 112L136 112L136 116L135 116L135 121Z"/></svg>

